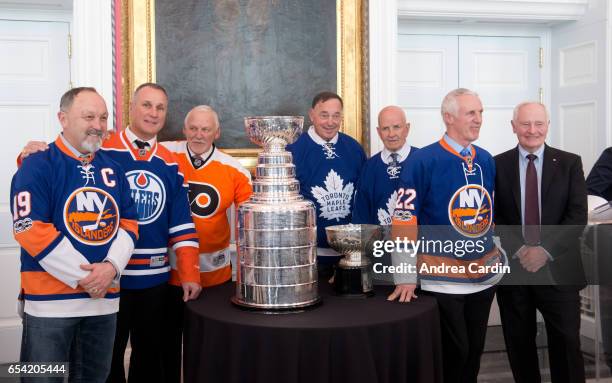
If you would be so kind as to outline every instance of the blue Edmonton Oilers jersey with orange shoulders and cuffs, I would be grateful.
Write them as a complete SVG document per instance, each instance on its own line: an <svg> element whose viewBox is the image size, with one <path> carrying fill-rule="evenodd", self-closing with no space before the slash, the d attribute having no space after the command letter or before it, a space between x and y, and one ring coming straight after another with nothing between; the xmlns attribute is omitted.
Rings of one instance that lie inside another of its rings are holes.
<svg viewBox="0 0 612 383"><path fill-rule="evenodd" d="M174 155L155 143L144 153L130 144L125 131L105 141L102 150L125 170L138 211L140 239L121 277L121 287L143 289L166 283L175 251L182 282L199 283L198 237L191 219L187 185Z"/></svg>

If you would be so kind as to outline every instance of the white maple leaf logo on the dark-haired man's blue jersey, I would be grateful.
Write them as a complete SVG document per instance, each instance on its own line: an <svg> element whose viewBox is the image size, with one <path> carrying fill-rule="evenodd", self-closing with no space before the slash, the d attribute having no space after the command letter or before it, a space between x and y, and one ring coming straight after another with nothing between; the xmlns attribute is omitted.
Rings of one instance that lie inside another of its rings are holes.
<svg viewBox="0 0 612 383"><path fill-rule="evenodd" d="M317 199L321 214L328 220L345 218L351 212L351 200L353 199L353 183L344 186L344 181L333 169L325 177L325 189L321 186L313 186L311 189L313 197Z"/></svg>

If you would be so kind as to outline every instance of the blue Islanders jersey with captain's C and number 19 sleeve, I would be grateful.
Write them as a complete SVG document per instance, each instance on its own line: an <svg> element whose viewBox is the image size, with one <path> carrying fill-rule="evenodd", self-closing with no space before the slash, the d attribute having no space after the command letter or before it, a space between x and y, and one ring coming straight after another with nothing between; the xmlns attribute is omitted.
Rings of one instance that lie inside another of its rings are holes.
<svg viewBox="0 0 612 383"><path fill-rule="evenodd" d="M123 169L105 153L79 159L60 137L26 158L11 182L13 232L21 245L25 312L41 317L104 315L119 289L91 299L78 285L83 264L108 261L121 272L138 236Z"/></svg>

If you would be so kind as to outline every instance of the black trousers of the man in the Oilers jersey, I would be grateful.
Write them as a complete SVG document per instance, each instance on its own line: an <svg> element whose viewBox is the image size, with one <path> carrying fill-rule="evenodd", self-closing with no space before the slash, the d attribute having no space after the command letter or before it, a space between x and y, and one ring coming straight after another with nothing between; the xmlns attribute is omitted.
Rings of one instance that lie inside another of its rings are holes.
<svg viewBox="0 0 612 383"><path fill-rule="evenodd" d="M125 382L123 360L128 337L132 346L128 381L163 382L163 337L167 330L165 306L168 286L148 289L122 289L117 315L111 373L107 382Z"/></svg>

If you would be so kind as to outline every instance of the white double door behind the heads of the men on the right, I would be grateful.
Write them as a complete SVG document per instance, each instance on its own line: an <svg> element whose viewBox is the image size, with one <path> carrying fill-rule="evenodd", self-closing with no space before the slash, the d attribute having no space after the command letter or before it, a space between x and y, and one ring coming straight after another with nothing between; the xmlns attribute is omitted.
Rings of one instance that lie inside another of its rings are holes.
<svg viewBox="0 0 612 383"><path fill-rule="evenodd" d="M440 139L442 98L463 87L478 92L485 109L476 144L493 155L513 147L514 106L539 99L539 48L539 37L399 35L398 100L411 121L410 143Z"/></svg>

